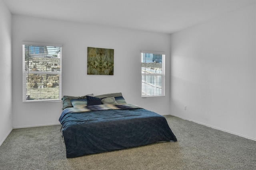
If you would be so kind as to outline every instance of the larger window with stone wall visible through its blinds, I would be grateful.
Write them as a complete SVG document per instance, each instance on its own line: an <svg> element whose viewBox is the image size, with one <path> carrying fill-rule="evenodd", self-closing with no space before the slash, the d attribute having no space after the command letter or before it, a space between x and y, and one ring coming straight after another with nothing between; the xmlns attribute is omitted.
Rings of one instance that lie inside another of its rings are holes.
<svg viewBox="0 0 256 170"><path fill-rule="evenodd" d="M24 43L23 102L61 100L61 45Z"/></svg>

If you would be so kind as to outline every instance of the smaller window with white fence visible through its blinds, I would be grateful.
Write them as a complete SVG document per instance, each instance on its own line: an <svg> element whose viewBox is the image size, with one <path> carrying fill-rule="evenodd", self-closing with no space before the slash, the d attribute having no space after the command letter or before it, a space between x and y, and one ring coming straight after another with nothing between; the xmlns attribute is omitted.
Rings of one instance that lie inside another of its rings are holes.
<svg viewBox="0 0 256 170"><path fill-rule="evenodd" d="M165 53L141 52L142 97L165 96Z"/></svg>

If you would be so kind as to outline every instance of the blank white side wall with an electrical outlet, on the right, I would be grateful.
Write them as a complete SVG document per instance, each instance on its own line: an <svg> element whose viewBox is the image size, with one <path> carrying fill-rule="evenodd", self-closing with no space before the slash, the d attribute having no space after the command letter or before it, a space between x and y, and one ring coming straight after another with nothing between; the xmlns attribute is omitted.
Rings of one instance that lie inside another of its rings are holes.
<svg viewBox="0 0 256 170"><path fill-rule="evenodd" d="M255 15L254 4L171 35L172 115L256 140Z"/></svg>

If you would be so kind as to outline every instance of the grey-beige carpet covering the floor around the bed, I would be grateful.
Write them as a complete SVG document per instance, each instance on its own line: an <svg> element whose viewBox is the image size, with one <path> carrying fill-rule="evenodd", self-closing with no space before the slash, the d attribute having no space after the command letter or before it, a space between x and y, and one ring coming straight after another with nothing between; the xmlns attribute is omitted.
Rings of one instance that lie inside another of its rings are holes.
<svg viewBox="0 0 256 170"><path fill-rule="evenodd" d="M178 142L66 158L60 125L13 129L0 170L255 170L256 141L165 116Z"/></svg>

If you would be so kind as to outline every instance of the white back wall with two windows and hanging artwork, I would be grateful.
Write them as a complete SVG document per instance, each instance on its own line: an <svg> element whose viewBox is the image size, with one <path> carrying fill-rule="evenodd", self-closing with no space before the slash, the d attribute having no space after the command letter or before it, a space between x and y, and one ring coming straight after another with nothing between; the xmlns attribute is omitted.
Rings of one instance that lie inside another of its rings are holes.
<svg viewBox="0 0 256 170"><path fill-rule="evenodd" d="M62 96L122 92L127 103L169 114L169 66L166 67L166 97L140 97L140 51L164 51L166 63L170 63L169 34L17 15L12 18L13 127L56 124L62 112L61 102L22 103L22 41L63 45ZM114 49L114 76L87 75L87 47Z"/></svg>

